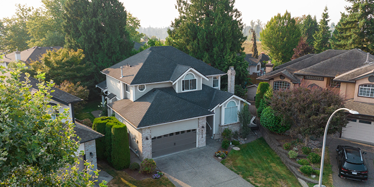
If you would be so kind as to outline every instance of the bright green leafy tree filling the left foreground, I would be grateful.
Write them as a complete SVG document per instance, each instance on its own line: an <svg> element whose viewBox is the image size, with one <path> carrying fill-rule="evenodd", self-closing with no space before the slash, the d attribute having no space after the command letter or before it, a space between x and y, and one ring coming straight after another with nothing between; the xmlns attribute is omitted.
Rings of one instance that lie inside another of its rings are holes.
<svg viewBox="0 0 374 187"><path fill-rule="evenodd" d="M92 187L92 165L78 172L79 143L68 113L56 115L59 106L49 105L52 83L37 76L38 91L29 91L29 80L20 81L19 69L3 70L0 76L0 186ZM5 76L4 76L5 75ZM52 119L52 116L55 119ZM65 169L64 169L65 168ZM85 172L87 171L87 173ZM93 178L92 178L93 177Z"/></svg>

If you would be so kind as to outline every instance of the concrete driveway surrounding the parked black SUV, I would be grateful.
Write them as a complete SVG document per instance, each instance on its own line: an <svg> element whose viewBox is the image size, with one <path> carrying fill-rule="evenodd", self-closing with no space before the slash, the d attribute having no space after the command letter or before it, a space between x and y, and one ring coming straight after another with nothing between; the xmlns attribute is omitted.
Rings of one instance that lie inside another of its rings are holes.
<svg viewBox="0 0 374 187"><path fill-rule="evenodd" d="M326 145L330 151L330 162L333 166L333 181L334 187L373 187L374 186L374 146L364 143L354 142L350 140L344 140L340 138L333 138L332 136L327 137ZM349 179L342 179L338 176L338 162L336 160L336 147L338 145L349 145L360 147L363 152L367 152L365 155L365 161L369 170L368 182L353 181Z"/></svg>

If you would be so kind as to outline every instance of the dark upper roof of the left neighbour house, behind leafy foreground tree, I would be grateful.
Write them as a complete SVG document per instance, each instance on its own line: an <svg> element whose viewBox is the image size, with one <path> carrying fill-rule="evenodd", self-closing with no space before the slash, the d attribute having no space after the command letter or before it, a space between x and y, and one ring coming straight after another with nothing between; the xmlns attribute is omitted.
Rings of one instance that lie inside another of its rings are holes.
<svg viewBox="0 0 374 187"><path fill-rule="evenodd" d="M25 74L22 73L21 76L19 77L19 80L26 81L24 77L25 77ZM30 80L29 84L31 85L30 91L31 92L37 91L38 90L37 84L39 83L39 81L33 77L29 77L29 80ZM51 99L58 101L60 103L63 103L65 105L68 105L69 103L76 103L79 101L83 101L83 99L77 96L71 95L67 92L64 92L58 88L52 87L51 90L54 90L54 92L50 93L50 95L52 96Z"/></svg>

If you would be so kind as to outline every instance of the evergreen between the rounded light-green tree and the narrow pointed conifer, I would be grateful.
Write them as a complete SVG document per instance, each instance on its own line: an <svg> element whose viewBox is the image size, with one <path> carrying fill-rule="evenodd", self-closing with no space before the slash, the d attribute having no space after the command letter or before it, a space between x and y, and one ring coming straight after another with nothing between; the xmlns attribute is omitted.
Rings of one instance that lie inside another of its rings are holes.
<svg viewBox="0 0 374 187"><path fill-rule="evenodd" d="M306 42L309 45L314 44L313 35L318 30L318 23L316 16L312 17L310 14L303 15L300 23L301 35L306 37Z"/></svg>

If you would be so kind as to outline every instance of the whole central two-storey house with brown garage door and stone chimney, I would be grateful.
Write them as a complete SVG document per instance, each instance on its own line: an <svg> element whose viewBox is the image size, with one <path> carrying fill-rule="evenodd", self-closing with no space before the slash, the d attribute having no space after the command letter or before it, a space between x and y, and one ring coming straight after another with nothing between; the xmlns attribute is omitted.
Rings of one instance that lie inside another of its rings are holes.
<svg viewBox="0 0 374 187"><path fill-rule="evenodd" d="M237 112L246 102L220 90L226 73L172 46L150 47L101 71L109 115L126 124L130 149L141 159L205 146L224 128L240 128Z"/></svg>

